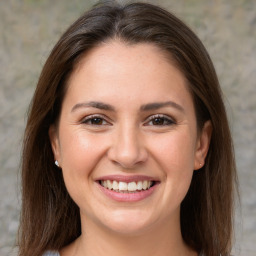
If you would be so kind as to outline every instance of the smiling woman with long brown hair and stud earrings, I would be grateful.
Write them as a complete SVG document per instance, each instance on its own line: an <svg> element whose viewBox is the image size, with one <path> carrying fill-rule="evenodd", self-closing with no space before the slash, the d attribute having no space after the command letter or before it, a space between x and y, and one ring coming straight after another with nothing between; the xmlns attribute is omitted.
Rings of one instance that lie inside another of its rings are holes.
<svg viewBox="0 0 256 256"><path fill-rule="evenodd" d="M20 256L230 255L236 171L212 62L150 4L98 5L41 73Z"/></svg>

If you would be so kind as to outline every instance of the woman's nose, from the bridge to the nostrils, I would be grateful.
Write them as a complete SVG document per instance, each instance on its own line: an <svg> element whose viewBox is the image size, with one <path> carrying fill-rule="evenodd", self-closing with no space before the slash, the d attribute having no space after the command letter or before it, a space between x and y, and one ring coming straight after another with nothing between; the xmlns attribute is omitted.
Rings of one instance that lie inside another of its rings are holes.
<svg viewBox="0 0 256 256"><path fill-rule="evenodd" d="M125 169L146 162L147 149L140 131L132 127L120 127L112 137L108 158Z"/></svg>

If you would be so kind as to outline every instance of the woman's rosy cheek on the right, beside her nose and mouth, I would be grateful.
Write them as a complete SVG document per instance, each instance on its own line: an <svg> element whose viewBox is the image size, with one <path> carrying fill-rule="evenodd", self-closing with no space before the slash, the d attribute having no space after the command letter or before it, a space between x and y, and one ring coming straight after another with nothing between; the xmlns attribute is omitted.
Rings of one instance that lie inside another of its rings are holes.
<svg viewBox="0 0 256 256"><path fill-rule="evenodd" d="M155 144L152 154L164 175L164 202L172 202L170 207L178 206L189 189L194 171L194 143L193 136L177 132Z"/></svg>

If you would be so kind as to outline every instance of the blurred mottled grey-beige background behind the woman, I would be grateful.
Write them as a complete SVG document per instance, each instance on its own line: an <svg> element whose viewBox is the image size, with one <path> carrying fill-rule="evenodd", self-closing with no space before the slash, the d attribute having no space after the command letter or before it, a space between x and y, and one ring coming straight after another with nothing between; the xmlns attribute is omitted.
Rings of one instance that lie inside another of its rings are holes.
<svg viewBox="0 0 256 256"><path fill-rule="evenodd" d="M234 255L256 256L256 1L147 2L160 4L184 20L212 57L224 92L240 180ZM16 255L21 142L38 76L60 35L95 3L0 1L1 256Z"/></svg>

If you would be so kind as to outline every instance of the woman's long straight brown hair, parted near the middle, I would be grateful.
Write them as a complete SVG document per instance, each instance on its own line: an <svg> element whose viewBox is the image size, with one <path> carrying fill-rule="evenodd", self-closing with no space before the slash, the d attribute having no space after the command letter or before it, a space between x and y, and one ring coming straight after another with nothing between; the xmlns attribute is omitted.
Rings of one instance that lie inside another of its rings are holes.
<svg viewBox="0 0 256 256"><path fill-rule="evenodd" d="M59 250L81 233L79 208L54 165L48 136L60 114L65 85L76 63L100 43L153 43L169 53L187 79L198 129L211 120L205 166L194 173L181 205L184 241L207 256L229 255L236 169L232 139L213 64L198 37L164 9L145 3L95 6L62 35L42 70L24 136L19 255Z"/></svg>

